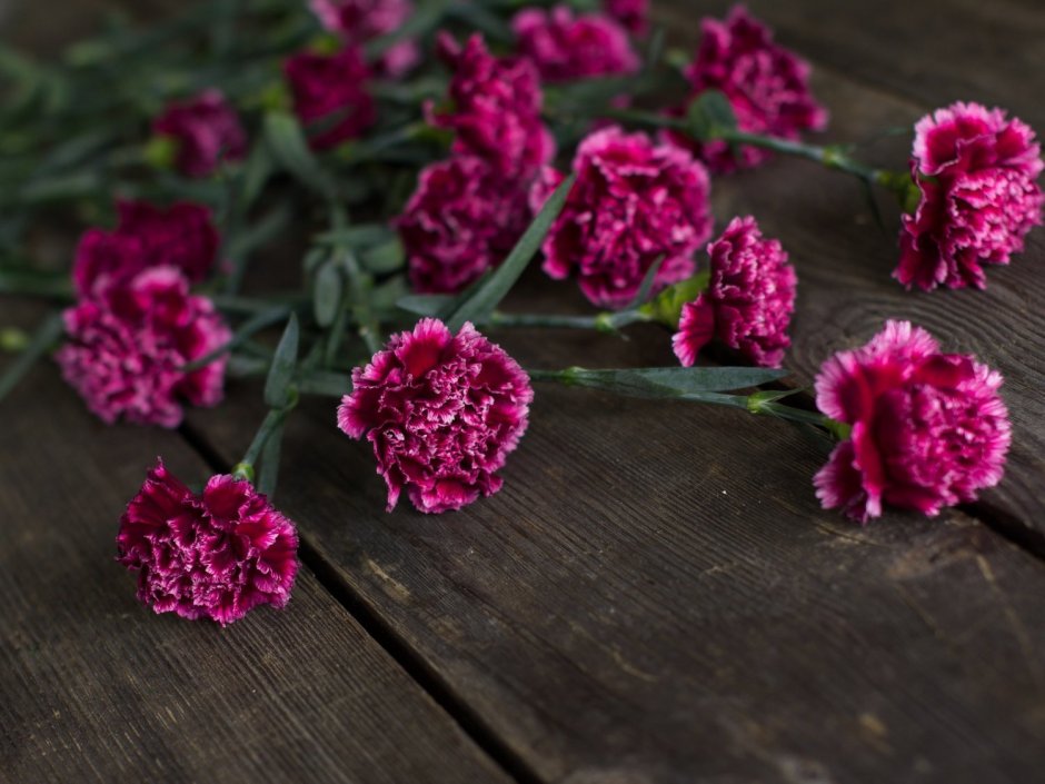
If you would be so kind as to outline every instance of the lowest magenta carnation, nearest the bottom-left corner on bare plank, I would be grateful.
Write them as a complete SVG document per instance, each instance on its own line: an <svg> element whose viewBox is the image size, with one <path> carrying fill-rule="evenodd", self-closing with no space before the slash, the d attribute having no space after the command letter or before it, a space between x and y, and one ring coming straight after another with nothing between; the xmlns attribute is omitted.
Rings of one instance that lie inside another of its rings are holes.
<svg viewBox="0 0 1045 784"><path fill-rule="evenodd" d="M262 604L285 607L298 572L293 524L250 483L213 476L196 495L162 462L127 505L116 542L142 604L222 626Z"/></svg>

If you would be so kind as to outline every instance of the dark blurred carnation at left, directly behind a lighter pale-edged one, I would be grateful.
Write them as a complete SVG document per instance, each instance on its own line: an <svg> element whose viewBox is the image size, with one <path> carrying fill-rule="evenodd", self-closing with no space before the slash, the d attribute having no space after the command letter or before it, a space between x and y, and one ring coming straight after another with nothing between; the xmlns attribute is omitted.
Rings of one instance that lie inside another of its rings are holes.
<svg viewBox="0 0 1045 784"><path fill-rule="evenodd" d="M215 266L220 238L208 207L119 201L117 210L116 231L89 229L80 239L72 267L79 296L99 295L152 267L177 267L199 282Z"/></svg>

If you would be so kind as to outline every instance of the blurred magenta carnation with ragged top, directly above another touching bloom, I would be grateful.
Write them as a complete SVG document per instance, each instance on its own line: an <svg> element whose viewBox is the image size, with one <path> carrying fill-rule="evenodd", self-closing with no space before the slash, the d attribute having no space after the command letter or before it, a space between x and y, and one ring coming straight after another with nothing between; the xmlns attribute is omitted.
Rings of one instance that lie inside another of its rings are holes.
<svg viewBox="0 0 1045 784"><path fill-rule="evenodd" d="M439 51L452 69L451 109L429 107L429 121L457 135L454 152L481 158L505 180L526 187L555 155L555 141L540 118L537 70L527 58L496 58L482 37L460 47L447 34ZM509 183L511 185L511 183Z"/></svg>

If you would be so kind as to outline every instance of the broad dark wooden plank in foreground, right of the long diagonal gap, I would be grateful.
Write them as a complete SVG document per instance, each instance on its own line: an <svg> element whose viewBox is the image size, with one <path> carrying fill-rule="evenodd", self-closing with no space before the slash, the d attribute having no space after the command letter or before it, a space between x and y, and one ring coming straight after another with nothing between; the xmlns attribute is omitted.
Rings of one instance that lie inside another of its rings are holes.
<svg viewBox="0 0 1045 784"><path fill-rule="evenodd" d="M498 337L529 366L669 360L656 329ZM235 399L195 419L227 459ZM982 783L1043 761L1045 566L958 513L820 512L803 431L541 386L505 489L428 517L382 514L334 414L291 421L280 505L544 781Z"/></svg>

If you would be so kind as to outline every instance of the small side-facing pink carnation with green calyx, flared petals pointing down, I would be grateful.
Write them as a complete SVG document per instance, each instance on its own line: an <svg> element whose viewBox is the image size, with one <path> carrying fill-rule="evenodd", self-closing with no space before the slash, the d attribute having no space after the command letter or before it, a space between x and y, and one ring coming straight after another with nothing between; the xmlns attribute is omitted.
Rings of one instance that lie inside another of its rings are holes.
<svg viewBox="0 0 1045 784"><path fill-rule="evenodd" d="M764 239L752 217L734 218L708 245L707 290L683 306L675 355L691 367L716 335L763 367L779 367L790 346L787 328L795 310L795 269L778 240Z"/></svg>

